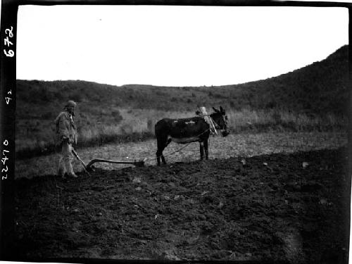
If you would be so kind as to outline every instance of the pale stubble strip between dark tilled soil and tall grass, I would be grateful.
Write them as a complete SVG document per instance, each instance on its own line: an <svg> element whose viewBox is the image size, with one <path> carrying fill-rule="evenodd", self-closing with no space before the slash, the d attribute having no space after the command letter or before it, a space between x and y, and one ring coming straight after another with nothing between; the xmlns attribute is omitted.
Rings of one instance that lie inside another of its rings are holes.
<svg viewBox="0 0 352 264"><path fill-rule="evenodd" d="M347 144L347 134L343 132L285 132L259 134L230 134L228 137L210 137L210 158L250 157L269 153L293 153L316 149L336 149ZM199 159L199 144L189 144L182 151L171 156L168 153L180 149L181 144L171 143L164 151L168 163L191 162ZM105 158L118 161L134 161L148 158L146 165L156 165L156 140L130 142L125 144L106 144L99 148L80 149L79 155L88 163L93 158ZM57 154L27 158L15 162L15 177L33 177L56 174ZM122 168L124 165L97 163L108 170ZM75 171L82 170L75 161Z"/></svg>

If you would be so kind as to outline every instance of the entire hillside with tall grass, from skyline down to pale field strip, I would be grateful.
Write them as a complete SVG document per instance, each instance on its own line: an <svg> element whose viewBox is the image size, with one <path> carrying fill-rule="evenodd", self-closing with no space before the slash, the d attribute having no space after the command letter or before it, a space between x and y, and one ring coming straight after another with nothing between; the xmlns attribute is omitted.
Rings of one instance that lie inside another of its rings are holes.
<svg viewBox="0 0 352 264"><path fill-rule="evenodd" d="M220 87L18 80L16 152L53 150L53 121L68 99L78 103L79 146L91 146L153 137L156 120L194 115L197 105L224 106L232 132L339 130L346 123L347 87L348 46L291 73Z"/></svg>

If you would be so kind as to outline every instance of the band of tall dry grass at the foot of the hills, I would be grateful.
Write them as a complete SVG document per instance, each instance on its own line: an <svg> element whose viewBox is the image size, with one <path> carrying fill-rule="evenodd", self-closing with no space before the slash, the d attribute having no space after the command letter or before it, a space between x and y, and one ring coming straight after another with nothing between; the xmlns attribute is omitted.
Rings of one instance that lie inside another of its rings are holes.
<svg viewBox="0 0 352 264"><path fill-rule="evenodd" d="M82 114L84 122L78 122L78 146L97 146L121 141L133 141L130 136L142 139L151 138L154 125L161 118L187 118L195 115L194 111L157 111L145 109L116 108L122 117L119 122L112 122L110 117L96 118ZM211 110L208 109L210 112ZM108 114L106 114L108 115ZM347 125L347 118L337 115L307 115L279 110L227 111L232 133L243 132L341 132ZM94 120L94 121L92 121ZM39 124L40 125L40 124ZM20 156L37 156L38 153L50 153L54 149L53 127L44 122L37 131L20 134L16 132L16 153ZM142 134L146 136L142 136ZM48 151L49 150L49 151Z"/></svg>

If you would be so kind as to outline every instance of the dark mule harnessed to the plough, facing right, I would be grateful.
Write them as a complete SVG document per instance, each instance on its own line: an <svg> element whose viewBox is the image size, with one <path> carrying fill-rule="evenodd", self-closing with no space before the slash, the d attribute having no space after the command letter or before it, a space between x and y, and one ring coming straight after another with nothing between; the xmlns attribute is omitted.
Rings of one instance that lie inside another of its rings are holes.
<svg viewBox="0 0 352 264"><path fill-rule="evenodd" d="M227 126L227 115L225 110L220 106L220 110L213 108L215 113L210 114L215 128L222 130L222 137L230 134ZM201 160L203 160L204 149L206 159L208 159L208 138L210 135L210 125L201 116L194 118L170 119L164 118L159 120L155 125L155 134L158 145L156 151L156 161L160 165L160 158L163 164L166 164L163 156L163 150L170 142L186 144L190 142L199 142Z"/></svg>

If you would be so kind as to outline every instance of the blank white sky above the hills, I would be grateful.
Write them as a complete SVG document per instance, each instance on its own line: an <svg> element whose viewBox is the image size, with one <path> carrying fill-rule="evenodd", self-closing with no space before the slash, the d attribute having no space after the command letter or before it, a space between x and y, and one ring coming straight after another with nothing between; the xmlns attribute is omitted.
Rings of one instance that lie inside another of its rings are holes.
<svg viewBox="0 0 352 264"><path fill-rule="evenodd" d="M348 9L20 6L17 78L237 84L288 73L348 44Z"/></svg>

